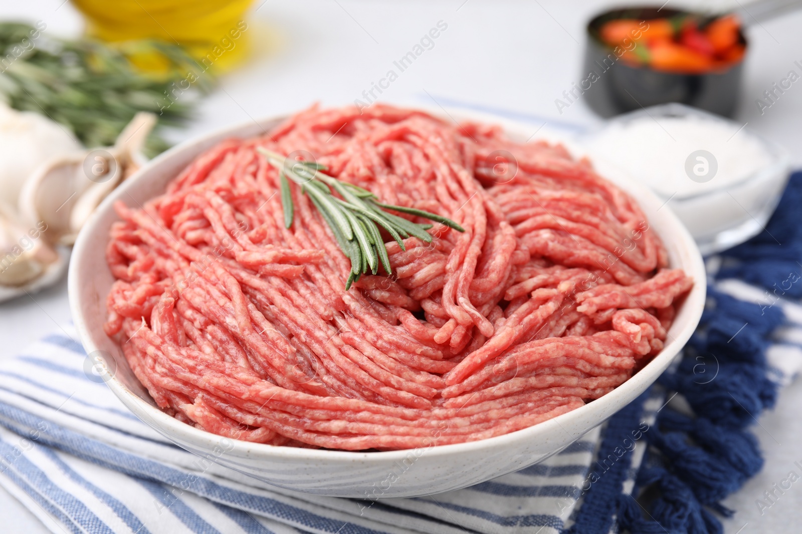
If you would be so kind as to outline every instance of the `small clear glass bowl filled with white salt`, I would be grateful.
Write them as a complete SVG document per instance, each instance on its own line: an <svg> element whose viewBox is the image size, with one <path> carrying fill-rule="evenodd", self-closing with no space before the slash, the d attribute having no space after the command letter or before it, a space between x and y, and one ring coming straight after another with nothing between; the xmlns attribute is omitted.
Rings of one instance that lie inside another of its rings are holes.
<svg viewBox="0 0 802 534"><path fill-rule="evenodd" d="M782 148L682 104L622 115L581 141L593 161L612 163L666 199L703 254L762 231L790 171Z"/></svg>

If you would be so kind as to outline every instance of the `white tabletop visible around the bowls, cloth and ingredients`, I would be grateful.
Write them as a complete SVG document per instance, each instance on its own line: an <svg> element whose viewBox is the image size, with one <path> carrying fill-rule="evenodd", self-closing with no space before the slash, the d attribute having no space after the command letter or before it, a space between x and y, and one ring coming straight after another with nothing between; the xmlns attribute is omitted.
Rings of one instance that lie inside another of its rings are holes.
<svg viewBox="0 0 802 534"><path fill-rule="evenodd" d="M334 106L363 98L363 90L378 82L394 60L441 20L448 29L384 91L383 100L429 106L464 102L516 112L529 117L533 133L544 122L549 127L598 122L584 102L559 114L554 100L571 88L571 82L584 78L580 74L583 25L613 2L263 1L256 0L256 12L248 19L247 33L256 48L253 57L221 80L196 119L176 132L176 141L255 117L288 113L312 102ZM678 5L682 2L670 3ZM0 19L42 20L47 34L75 35L82 29L68 0L4 0ZM793 63L802 61L800 28L802 12L748 30L750 53L737 114L747 128L787 147L797 168L802 167L802 85L794 84L763 115L755 99L788 70L798 70ZM64 281L32 297L0 303L0 358L22 351L69 320ZM734 518L724 521L728 533L799 532L802 486L794 484L763 516L755 500L783 480L794 469L794 461L802 460L800 405L802 384L797 382L782 392L778 407L760 419L762 428L755 427L766 465L726 501L736 511ZM2 490L0 517L3 532L47 532Z"/></svg>

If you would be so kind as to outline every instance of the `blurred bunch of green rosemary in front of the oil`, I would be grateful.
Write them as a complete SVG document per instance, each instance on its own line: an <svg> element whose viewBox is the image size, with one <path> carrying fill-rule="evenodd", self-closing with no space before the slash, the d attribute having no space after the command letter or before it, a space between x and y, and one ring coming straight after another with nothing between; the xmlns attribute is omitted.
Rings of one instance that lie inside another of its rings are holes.
<svg viewBox="0 0 802 534"><path fill-rule="evenodd" d="M169 147L161 127L180 126L192 113L193 96L212 86L211 75L196 76L197 63L177 45L140 41L112 48L46 37L44 28L0 22L0 98L62 123L86 147L114 144L137 112L151 111L159 118L145 145L152 157ZM159 74L140 72L129 60L147 54L159 54L165 66ZM196 94L184 95L187 90Z"/></svg>

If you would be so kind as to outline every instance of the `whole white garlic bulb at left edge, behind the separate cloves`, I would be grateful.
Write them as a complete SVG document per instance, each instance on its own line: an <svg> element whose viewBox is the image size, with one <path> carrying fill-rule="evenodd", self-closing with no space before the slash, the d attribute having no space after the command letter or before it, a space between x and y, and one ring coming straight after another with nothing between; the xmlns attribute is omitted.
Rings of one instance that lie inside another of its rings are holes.
<svg viewBox="0 0 802 534"><path fill-rule="evenodd" d="M0 102L0 205L17 211L22 184L45 160L83 150L67 129L47 117Z"/></svg>

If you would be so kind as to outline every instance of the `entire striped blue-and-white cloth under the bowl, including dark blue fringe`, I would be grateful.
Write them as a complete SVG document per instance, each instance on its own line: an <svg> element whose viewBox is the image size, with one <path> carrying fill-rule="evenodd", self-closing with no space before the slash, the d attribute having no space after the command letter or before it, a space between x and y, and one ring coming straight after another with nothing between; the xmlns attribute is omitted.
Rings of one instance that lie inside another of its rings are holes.
<svg viewBox="0 0 802 534"><path fill-rule="evenodd" d="M0 363L0 484L59 534L722 532L763 464L750 428L802 367L800 203L797 173L763 234L708 259L707 310L657 384L520 472L375 502L257 484L132 416L67 328Z"/></svg>

